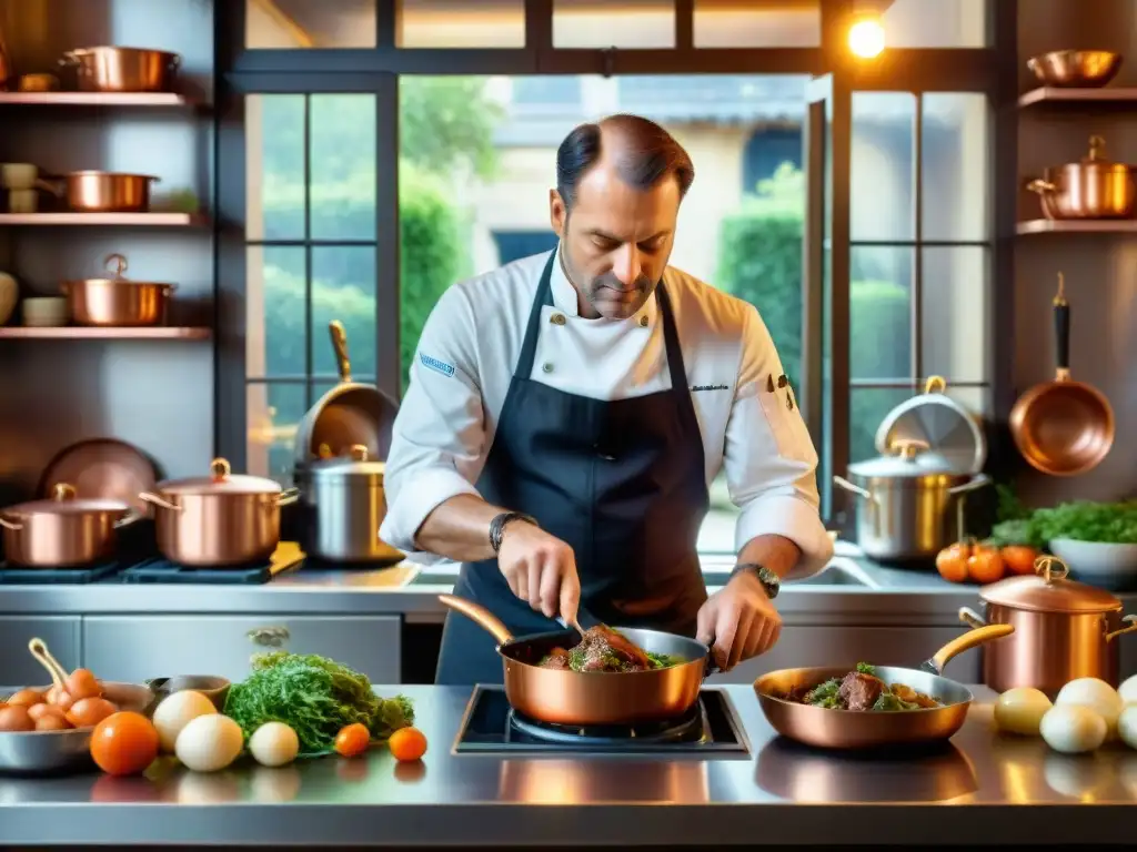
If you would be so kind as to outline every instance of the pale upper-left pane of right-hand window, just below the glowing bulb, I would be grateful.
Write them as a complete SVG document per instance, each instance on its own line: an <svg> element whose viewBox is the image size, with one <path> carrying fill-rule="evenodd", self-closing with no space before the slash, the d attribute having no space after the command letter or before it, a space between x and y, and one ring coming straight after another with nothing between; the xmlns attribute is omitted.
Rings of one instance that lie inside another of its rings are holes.
<svg viewBox="0 0 1137 852"><path fill-rule="evenodd" d="M903 92L853 94L849 227L854 240L914 240L916 100Z"/></svg>

